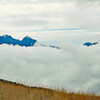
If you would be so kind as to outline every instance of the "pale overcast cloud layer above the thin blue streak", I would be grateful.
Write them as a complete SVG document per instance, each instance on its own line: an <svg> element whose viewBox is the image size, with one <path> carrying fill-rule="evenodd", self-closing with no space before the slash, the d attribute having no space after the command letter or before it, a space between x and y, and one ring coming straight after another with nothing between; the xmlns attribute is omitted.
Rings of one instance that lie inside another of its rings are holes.
<svg viewBox="0 0 100 100"><path fill-rule="evenodd" d="M100 29L99 0L0 0L0 32Z"/></svg>

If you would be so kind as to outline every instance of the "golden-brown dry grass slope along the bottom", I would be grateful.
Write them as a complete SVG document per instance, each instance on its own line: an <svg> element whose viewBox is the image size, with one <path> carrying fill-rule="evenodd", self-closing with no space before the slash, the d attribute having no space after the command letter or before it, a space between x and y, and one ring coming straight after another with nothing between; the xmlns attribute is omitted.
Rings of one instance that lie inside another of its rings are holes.
<svg viewBox="0 0 100 100"><path fill-rule="evenodd" d="M63 89L59 91L29 87L1 79L0 100L100 100L100 96L85 93L67 93Z"/></svg>

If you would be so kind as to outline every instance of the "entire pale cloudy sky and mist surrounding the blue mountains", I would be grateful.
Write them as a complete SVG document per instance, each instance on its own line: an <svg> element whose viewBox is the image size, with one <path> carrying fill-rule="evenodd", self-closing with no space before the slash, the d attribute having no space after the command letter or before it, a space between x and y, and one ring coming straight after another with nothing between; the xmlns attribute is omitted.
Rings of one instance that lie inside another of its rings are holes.
<svg viewBox="0 0 100 100"><path fill-rule="evenodd" d="M61 49L1 45L1 78L100 94L100 44L82 45L100 42L100 0L0 0L0 35L5 34Z"/></svg>

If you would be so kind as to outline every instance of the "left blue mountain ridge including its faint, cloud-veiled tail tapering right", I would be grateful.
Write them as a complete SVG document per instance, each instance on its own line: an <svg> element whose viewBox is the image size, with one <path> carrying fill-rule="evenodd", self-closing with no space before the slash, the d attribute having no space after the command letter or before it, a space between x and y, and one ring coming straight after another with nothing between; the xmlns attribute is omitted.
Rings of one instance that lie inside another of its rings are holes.
<svg viewBox="0 0 100 100"><path fill-rule="evenodd" d="M9 45L19 45L19 46L25 46L25 47L30 47L30 46L43 46L43 47L51 47L51 48L56 48L60 49L58 46L53 46L53 45L43 45L40 44L37 40L32 39L29 36L25 36L22 40L14 39L10 35L3 35L0 36L0 45L1 44L9 44Z"/></svg>

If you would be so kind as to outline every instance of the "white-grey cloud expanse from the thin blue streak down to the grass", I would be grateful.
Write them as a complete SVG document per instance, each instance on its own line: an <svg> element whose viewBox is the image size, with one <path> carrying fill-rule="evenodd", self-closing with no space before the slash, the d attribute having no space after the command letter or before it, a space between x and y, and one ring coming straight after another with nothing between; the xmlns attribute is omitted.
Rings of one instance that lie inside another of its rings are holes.
<svg viewBox="0 0 100 100"><path fill-rule="evenodd" d="M61 49L0 45L0 78L32 86L100 94L100 44L86 47L75 42L99 42L99 31L9 35L22 39L28 34L38 42L56 41Z"/></svg>

